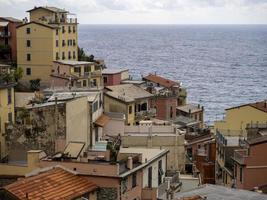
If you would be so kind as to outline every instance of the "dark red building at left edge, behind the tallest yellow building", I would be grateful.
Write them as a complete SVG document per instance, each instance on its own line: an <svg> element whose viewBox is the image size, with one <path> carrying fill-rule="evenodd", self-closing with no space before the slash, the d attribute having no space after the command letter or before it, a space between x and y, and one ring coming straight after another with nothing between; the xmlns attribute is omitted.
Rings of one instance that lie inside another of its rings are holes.
<svg viewBox="0 0 267 200"><path fill-rule="evenodd" d="M22 21L13 17L0 17L0 46L10 47L7 59L15 62L17 60L17 38L16 27ZM4 55L3 52L0 54Z"/></svg>

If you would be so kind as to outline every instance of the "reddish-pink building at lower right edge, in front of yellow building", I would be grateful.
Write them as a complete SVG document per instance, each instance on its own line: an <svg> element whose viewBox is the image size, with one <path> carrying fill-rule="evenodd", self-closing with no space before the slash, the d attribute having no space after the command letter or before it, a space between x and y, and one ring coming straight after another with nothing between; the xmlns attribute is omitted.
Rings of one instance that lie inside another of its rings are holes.
<svg viewBox="0 0 267 200"><path fill-rule="evenodd" d="M234 179L237 188L252 190L267 184L267 136L245 143L245 148L234 152Z"/></svg>

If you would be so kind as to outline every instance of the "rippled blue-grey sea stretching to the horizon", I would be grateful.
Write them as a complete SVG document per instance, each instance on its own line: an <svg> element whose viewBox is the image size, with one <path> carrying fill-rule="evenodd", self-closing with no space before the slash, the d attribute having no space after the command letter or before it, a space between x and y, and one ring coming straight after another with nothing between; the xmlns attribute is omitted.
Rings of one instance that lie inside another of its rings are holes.
<svg viewBox="0 0 267 200"><path fill-rule="evenodd" d="M80 25L79 45L134 78L181 81L208 123L267 99L267 25Z"/></svg>

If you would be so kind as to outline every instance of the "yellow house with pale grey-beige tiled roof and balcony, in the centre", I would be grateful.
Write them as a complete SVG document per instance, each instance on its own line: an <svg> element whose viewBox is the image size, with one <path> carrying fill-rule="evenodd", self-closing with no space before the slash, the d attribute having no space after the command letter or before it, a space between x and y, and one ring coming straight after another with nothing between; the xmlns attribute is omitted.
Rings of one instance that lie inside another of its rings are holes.
<svg viewBox="0 0 267 200"><path fill-rule="evenodd" d="M107 86L104 96L105 112L123 113L127 125L138 124L156 113L149 108L149 100L153 95L133 84Z"/></svg>

